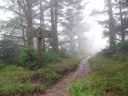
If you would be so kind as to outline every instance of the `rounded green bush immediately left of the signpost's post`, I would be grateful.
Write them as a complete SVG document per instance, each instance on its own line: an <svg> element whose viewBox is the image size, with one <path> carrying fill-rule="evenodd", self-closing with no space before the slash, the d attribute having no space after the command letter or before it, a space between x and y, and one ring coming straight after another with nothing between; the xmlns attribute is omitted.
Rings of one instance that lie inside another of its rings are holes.
<svg viewBox="0 0 128 96"><path fill-rule="evenodd" d="M22 50L19 56L20 66L27 69L36 69L37 56L36 51L32 47L27 47Z"/></svg>

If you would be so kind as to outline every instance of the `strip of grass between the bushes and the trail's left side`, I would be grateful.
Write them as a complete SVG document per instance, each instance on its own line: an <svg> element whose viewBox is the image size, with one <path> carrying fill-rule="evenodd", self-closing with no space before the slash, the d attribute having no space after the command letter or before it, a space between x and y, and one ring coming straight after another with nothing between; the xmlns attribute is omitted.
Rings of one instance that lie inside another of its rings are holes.
<svg viewBox="0 0 128 96"><path fill-rule="evenodd" d="M0 96L33 96L44 92L63 75L75 70L78 60L63 60L39 70L6 66L0 69Z"/></svg>

